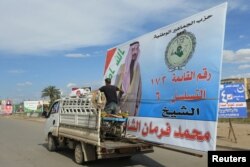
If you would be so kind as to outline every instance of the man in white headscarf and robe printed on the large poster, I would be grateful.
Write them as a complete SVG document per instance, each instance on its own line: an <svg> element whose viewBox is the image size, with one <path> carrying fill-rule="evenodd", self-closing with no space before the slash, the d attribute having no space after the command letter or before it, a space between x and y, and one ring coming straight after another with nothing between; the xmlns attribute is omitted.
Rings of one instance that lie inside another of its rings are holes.
<svg viewBox="0 0 250 167"><path fill-rule="evenodd" d="M138 114L137 112L141 100L139 55L139 42L136 41L131 43L125 58L125 63L120 66L115 80L115 85L124 92L119 103L121 111L128 112L130 116Z"/></svg>

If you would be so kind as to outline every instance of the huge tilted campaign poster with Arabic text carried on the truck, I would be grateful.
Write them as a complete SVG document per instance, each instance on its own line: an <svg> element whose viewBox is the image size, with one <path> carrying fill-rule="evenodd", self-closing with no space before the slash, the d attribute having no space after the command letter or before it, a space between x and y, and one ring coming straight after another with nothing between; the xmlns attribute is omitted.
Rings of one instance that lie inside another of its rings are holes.
<svg viewBox="0 0 250 167"><path fill-rule="evenodd" d="M215 150L227 3L107 51L104 77L124 91L127 133Z"/></svg>

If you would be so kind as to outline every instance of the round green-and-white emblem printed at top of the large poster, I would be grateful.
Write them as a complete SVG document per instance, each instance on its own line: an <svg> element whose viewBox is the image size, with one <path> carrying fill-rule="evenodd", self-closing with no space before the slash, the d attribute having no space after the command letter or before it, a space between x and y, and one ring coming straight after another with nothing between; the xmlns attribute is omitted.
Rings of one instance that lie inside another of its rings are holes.
<svg viewBox="0 0 250 167"><path fill-rule="evenodd" d="M169 43L165 52L165 62L171 71L181 70L194 53L196 38L186 30L178 33Z"/></svg>

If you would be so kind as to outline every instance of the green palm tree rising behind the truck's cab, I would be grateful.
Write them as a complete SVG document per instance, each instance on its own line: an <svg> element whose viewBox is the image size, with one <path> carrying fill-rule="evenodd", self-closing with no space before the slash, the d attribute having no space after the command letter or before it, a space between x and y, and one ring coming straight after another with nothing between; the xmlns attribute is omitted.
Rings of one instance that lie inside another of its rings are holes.
<svg viewBox="0 0 250 167"><path fill-rule="evenodd" d="M57 99L60 99L61 92L55 86L48 86L42 90L42 97L49 97L50 103L49 106Z"/></svg>

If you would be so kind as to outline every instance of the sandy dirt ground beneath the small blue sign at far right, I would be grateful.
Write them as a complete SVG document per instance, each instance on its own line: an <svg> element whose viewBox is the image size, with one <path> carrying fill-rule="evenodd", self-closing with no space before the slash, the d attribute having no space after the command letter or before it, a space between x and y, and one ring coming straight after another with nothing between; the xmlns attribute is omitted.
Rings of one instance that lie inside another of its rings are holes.
<svg viewBox="0 0 250 167"><path fill-rule="evenodd" d="M226 147L234 150L250 150L250 124L232 123L236 141L232 131L229 136L229 127L229 122L218 123L217 149Z"/></svg>

